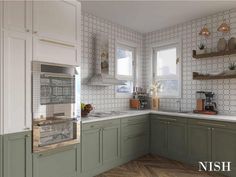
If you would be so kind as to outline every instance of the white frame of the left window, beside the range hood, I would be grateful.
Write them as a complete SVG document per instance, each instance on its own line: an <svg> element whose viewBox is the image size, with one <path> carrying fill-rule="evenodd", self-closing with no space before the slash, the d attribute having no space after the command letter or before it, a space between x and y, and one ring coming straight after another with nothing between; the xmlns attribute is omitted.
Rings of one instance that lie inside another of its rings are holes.
<svg viewBox="0 0 236 177"><path fill-rule="evenodd" d="M123 48L123 49L128 49L133 52L133 59L132 59L132 76L124 76L124 75L118 75L117 70L118 70L118 62L117 62L117 48ZM116 40L115 42L115 77L116 79L123 80L123 81L131 81L133 82L133 86L136 85L136 80L137 80L137 53L138 53L138 48L137 44L129 42L129 41L124 41L124 40ZM132 88L133 89L133 88ZM132 96L132 91L131 93L118 93L117 92L117 86L115 87L115 95L117 98L130 98Z"/></svg>

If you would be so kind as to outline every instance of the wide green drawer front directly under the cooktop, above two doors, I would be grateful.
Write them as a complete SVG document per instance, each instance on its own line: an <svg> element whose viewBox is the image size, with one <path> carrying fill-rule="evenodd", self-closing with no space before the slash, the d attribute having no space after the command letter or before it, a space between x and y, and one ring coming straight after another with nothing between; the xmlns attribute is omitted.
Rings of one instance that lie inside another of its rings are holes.
<svg viewBox="0 0 236 177"><path fill-rule="evenodd" d="M91 122L91 123L82 124L82 130L106 128L110 126L117 126L119 124L120 124L120 119Z"/></svg>

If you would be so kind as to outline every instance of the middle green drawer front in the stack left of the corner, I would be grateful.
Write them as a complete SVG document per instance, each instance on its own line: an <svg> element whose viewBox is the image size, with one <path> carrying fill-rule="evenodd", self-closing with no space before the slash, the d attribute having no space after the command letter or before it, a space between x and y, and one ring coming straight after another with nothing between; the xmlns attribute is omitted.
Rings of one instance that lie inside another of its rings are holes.
<svg viewBox="0 0 236 177"><path fill-rule="evenodd" d="M132 125L122 125L122 137L132 135L147 134L149 130L148 122L137 123Z"/></svg>

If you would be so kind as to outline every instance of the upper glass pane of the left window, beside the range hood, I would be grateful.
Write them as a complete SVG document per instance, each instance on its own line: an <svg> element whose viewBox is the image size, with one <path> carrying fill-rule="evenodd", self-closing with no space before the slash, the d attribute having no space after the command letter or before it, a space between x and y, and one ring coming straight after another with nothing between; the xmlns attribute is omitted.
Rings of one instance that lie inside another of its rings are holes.
<svg viewBox="0 0 236 177"><path fill-rule="evenodd" d="M117 75L132 76L133 52L131 50L117 48Z"/></svg>

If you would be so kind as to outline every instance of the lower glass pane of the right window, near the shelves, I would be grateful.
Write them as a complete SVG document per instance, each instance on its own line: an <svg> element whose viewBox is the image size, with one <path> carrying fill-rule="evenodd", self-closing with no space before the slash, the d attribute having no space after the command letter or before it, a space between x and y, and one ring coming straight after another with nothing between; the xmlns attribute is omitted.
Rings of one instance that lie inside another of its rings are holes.
<svg viewBox="0 0 236 177"><path fill-rule="evenodd" d="M160 80L158 81L161 87L159 89L159 94L163 96L177 96L179 89L178 80Z"/></svg>

